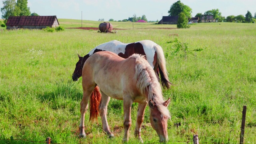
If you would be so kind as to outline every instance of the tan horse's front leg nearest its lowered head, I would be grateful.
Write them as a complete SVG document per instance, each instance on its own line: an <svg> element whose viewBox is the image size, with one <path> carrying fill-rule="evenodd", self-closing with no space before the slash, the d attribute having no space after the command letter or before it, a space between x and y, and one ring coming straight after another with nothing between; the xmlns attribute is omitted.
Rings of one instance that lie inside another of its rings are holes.
<svg viewBox="0 0 256 144"><path fill-rule="evenodd" d="M136 120L135 132L134 132L135 137L138 138L138 140L140 140L140 142L142 143L143 143L143 140L141 138L140 131L141 131L142 122L144 120L144 112L147 104L148 102L143 102L138 104L138 113L137 113L137 120Z"/></svg>

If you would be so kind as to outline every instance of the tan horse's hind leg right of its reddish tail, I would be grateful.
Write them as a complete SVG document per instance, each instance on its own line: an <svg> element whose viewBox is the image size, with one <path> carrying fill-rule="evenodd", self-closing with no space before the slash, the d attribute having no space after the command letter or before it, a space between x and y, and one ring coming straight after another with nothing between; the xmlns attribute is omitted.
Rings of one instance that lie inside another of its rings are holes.
<svg viewBox="0 0 256 144"><path fill-rule="evenodd" d="M102 122L102 127L104 132L106 132L106 134L108 134L109 138L113 138L114 134L112 134L110 132L109 126L108 126L108 121L107 121L107 110L108 110L108 102L110 100L110 97L107 96L106 94L104 94L103 92L101 92L101 101L100 101L100 106L99 106L99 110L100 110L100 117L101 117L101 122Z"/></svg>

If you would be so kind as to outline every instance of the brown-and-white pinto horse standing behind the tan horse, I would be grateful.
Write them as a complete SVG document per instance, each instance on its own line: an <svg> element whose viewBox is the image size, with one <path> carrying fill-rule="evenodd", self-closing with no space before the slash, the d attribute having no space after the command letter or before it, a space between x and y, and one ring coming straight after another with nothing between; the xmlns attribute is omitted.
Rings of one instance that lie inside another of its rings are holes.
<svg viewBox="0 0 256 144"><path fill-rule="evenodd" d="M100 44L92 49L88 54L84 57L79 57L79 61L76 63L76 68L72 75L73 81L77 81L78 78L82 76L82 68L84 66L84 62L95 52L99 51L110 51L118 54L122 58L128 58L132 54L142 54L145 55L148 63L159 78L159 74L161 77L161 84L166 88L170 88L172 83L170 83L168 79L168 73L166 70L164 52L158 44L152 42L151 40L142 40L134 43L122 43L117 40L112 40L110 42L106 42L104 44Z"/></svg>

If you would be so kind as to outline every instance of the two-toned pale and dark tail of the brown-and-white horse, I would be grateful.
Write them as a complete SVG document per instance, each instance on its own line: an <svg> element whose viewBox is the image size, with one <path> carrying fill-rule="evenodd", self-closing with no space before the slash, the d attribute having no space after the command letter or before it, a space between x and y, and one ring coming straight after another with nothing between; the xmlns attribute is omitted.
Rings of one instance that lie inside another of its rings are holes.
<svg viewBox="0 0 256 144"><path fill-rule="evenodd" d="M157 73L160 74L160 81L162 86L166 88L170 88L171 85L173 85L169 79L168 79L168 72L166 69L166 63L165 63L165 58L164 58L164 52L161 46L155 45L154 46L157 54Z"/></svg>

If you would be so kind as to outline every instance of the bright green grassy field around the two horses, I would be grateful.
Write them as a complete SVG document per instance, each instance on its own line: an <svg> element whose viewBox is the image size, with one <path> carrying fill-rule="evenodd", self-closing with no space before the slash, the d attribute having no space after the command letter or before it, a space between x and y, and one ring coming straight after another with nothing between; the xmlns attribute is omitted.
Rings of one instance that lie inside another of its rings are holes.
<svg viewBox="0 0 256 144"><path fill-rule="evenodd" d="M82 81L72 81L78 61L95 46L110 40L136 42L152 40L166 55L170 81L163 90L172 118L168 122L171 144L192 143L193 134L200 143L234 144L239 142L242 107L247 106L244 141L256 143L256 24L203 23L189 29L155 23L112 22L116 34L80 27L81 20L59 19L63 32L43 30L5 30L0 35L0 144L102 143L122 142L122 101L110 100L108 123L115 135L108 139L98 122L89 122L87 137L79 139ZM98 27L100 22L83 20L83 27ZM134 29L133 29L134 27ZM155 28L155 29L153 29ZM187 43L187 54L170 41ZM132 106L132 127L128 144L138 143L133 135L138 104ZM158 142L150 126L148 108L142 124L144 143ZM11 137L14 140L9 140ZM35 142L31 142L35 141Z"/></svg>

